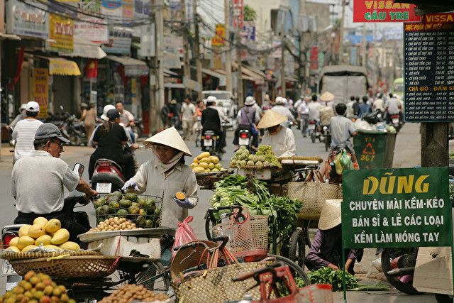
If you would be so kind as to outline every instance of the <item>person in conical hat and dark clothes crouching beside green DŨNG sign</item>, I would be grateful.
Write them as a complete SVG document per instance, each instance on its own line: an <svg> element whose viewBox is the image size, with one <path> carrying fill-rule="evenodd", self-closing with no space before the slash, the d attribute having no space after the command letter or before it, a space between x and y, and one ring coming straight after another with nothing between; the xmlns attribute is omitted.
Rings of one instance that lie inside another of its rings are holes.
<svg viewBox="0 0 454 303"><path fill-rule="evenodd" d="M341 199L326 200L321 209L319 231L304 263L309 270L328 267L333 270L342 268L342 253L345 254L345 268L355 275L355 260L360 262L362 250L345 249L342 252Z"/></svg>

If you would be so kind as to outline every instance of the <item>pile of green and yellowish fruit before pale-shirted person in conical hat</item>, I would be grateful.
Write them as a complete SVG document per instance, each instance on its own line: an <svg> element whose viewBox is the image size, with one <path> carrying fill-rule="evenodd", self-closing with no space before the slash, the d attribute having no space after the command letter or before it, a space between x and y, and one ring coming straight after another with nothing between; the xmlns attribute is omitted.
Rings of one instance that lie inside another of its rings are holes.
<svg viewBox="0 0 454 303"><path fill-rule="evenodd" d="M251 155L248 148L241 146L235 154L233 154L230 162L231 168L251 168L262 169L277 167L282 168L281 163L275 157L270 145L260 145L257 153Z"/></svg>

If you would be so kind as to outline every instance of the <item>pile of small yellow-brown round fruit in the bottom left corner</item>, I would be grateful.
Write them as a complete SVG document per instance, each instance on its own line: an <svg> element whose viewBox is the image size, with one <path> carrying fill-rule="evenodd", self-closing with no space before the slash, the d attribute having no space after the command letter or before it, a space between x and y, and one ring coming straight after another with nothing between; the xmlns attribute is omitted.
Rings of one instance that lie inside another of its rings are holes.
<svg viewBox="0 0 454 303"><path fill-rule="evenodd" d="M48 275L29 271L16 287L0 297L0 303L3 302L75 303L76 301L68 297L65 286L57 285Z"/></svg>

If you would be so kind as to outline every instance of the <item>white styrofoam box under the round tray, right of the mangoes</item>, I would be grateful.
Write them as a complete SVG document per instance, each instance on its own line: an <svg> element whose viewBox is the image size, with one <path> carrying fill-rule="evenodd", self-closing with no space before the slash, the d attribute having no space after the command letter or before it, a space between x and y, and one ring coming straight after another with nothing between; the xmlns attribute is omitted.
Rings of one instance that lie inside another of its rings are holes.
<svg viewBox="0 0 454 303"><path fill-rule="evenodd" d="M161 258L161 245L159 238L135 237L135 236L114 236L88 244L88 248L96 248L102 243L101 253L103 255L118 255L128 257L131 250L135 249L142 255L148 255L151 259ZM118 250L117 250L118 247Z"/></svg>

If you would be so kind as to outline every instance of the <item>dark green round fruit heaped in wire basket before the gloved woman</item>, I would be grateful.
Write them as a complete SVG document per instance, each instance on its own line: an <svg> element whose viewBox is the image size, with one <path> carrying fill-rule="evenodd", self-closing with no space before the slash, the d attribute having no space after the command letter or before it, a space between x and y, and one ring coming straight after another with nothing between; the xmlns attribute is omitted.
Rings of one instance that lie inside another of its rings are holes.
<svg viewBox="0 0 454 303"><path fill-rule="evenodd" d="M96 209L96 224L117 218L131 221L137 227L153 228L159 226L161 211L158 206L160 205L156 203L153 197L141 197L134 193L123 195L121 192L112 192L105 197L96 199L93 204Z"/></svg>

